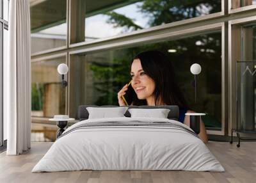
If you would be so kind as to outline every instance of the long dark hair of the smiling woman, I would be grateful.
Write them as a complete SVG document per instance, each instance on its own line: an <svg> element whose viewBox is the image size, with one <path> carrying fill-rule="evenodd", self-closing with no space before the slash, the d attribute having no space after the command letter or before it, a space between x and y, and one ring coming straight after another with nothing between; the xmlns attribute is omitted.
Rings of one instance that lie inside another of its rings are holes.
<svg viewBox="0 0 256 183"><path fill-rule="evenodd" d="M165 105L177 105L179 107L188 107L186 100L175 79L172 62L168 61L163 52L145 51L135 56L140 60L141 67L144 72L151 77L156 85L154 90L155 105L157 101L163 102ZM132 65L131 62L131 65ZM130 66L131 70L131 66ZM134 106L147 105L146 100L134 99Z"/></svg>

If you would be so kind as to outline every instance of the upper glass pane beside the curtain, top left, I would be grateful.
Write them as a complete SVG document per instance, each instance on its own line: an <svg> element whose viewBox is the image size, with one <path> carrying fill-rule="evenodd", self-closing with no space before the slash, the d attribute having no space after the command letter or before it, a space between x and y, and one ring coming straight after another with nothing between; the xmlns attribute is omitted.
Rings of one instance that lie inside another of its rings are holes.
<svg viewBox="0 0 256 183"><path fill-rule="evenodd" d="M31 53L66 45L66 0L32 1Z"/></svg>

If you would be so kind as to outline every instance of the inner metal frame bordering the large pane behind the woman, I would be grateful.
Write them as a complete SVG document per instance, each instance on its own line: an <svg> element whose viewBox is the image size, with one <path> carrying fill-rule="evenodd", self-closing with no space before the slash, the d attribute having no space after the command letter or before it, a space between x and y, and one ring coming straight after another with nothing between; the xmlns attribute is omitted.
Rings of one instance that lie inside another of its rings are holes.
<svg viewBox="0 0 256 183"><path fill-rule="evenodd" d="M227 26L225 26L224 22L216 23L216 24L210 24L207 26L198 26L195 28L189 28L184 29L182 31L173 31L169 33L163 33L162 35L152 35L148 36L147 38L137 38L134 40L124 40L123 42L118 42L118 44L108 44L108 45L99 45L95 47L89 47L85 49L79 49L76 51L70 51L68 52L68 60L69 63L76 60L77 54L89 54L92 52L100 52L100 51L106 51L109 49L116 49L116 48L122 48L122 47L129 47L131 45L141 45L141 44L147 44L152 42L161 42L161 40L175 40L177 38L182 38L186 36L194 36L194 35L200 35L202 33L211 33L212 31L221 31L221 131L214 131L214 130L207 130L207 134L215 134L215 135L224 135L226 128L225 128L225 120L227 120L227 86L225 86L225 82L227 81L227 76L225 74L227 70L227 64L225 63L226 55L225 55L225 34L227 34ZM226 61L227 62L227 61ZM72 69L72 68L71 68ZM68 86L68 91L72 90L70 86ZM69 96L69 98L71 95ZM68 99L68 109L74 107L75 105L72 104L72 100ZM68 110L72 111L72 110ZM74 111L73 111L74 112ZM73 113L68 113L68 115L72 116Z"/></svg>

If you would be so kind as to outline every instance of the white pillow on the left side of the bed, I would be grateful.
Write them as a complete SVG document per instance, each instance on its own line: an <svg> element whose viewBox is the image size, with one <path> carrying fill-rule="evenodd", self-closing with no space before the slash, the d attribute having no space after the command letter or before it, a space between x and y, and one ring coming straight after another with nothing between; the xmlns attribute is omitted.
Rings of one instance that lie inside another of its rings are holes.
<svg viewBox="0 0 256 183"><path fill-rule="evenodd" d="M125 117L124 114L128 107L86 107L89 117L95 118L119 118Z"/></svg>

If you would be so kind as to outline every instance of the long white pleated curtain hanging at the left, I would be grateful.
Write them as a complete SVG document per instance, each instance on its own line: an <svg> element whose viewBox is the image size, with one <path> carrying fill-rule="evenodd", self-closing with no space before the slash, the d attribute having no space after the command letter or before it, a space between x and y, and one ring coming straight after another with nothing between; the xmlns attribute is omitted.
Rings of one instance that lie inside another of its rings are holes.
<svg viewBox="0 0 256 183"><path fill-rule="evenodd" d="M4 62L4 120L8 155L30 148L31 77L29 0L10 0L8 60Z"/></svg>

